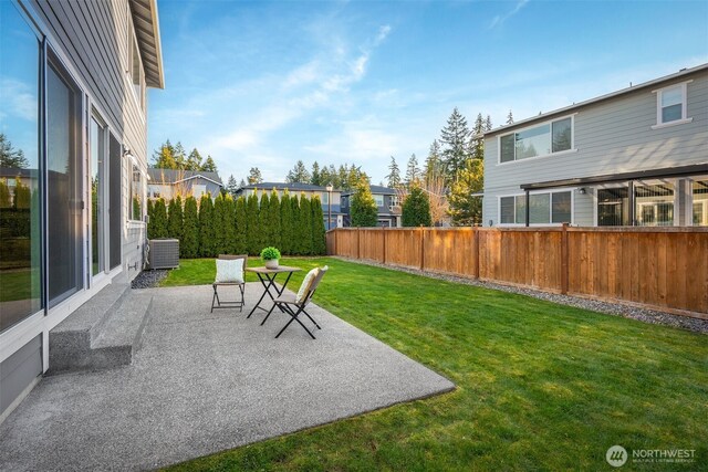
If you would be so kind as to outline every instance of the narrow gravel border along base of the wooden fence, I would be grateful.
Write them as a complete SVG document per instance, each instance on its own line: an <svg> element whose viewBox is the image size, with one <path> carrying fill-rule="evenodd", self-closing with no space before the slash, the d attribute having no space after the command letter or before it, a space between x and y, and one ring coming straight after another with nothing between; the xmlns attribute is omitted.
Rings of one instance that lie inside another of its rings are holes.
<svg viewBox="0 0 708 472"><path fill-rule="evenodd" d="M406 272L409 274L423 275L429 279L437 279L447 282L461 283L466 285L479 286L483 289L498 290L502 292L528 295L539 300L558 303L561 305L574 306L577 308L590 310L592 312L604 313L607 315L622 316L624 318L637 319L644 323L655 325L673 326L687 329L695 333L708 334L708 319L691 318L689 316L673 315L666 312L657 312L655 310L642 308L622 303L601 302L597 300L583 298L580 296L561 295L558 293L542 292L533 289L522 289L518 286L501 285L492 282L476 281L471 279L459 277L455 275L440 274L437 272L420 271L418 269L400 268L395 265L386 265L374 261L363 261L358 259L348 259L334 256L346 262L354 262L376 268L391 269L392 271Z"/></svg>

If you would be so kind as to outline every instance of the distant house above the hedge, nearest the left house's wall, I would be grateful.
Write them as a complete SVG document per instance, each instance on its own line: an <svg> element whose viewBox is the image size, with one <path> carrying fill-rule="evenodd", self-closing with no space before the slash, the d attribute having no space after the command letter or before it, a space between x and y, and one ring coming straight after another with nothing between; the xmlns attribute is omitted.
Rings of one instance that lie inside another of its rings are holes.
<svg viewBox="0 0 708 472"><path fill-rule="evenodd" d="M147 198L164 198L169 201L174 197L192 195L197 200L209 193L215 199L223 188L217 172L201 170L147 169Z"/></svg>

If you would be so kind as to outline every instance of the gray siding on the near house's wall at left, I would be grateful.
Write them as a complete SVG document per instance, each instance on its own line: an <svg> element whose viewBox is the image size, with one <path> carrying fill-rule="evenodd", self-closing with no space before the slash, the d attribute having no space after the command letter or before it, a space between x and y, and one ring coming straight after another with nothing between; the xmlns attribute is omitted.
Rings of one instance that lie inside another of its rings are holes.
<svg viewBox="0 0 708 472"><path fill-rule="evenodd" d="M118 140L127 145L138 166L147 168L147 126L126 73L133 35L133 19L127 0L113 1L37 1L28 2L48 29L50 45L61 52L80 87L90 97ZM142 266L140 245L144 223L127 221L129 213L129 176L132 161L123 160L123 270L136 262Z"/></svg>

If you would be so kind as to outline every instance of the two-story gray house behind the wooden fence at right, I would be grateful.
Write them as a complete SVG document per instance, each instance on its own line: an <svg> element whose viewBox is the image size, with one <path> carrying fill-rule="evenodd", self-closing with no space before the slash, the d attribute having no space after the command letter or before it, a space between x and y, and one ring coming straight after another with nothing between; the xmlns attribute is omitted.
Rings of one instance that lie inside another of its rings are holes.
<svg viewBox="0 0 708 472"><path fill-rule="evenodd" d="M708 225L708 64L485 133L485 225Z"/></svg>

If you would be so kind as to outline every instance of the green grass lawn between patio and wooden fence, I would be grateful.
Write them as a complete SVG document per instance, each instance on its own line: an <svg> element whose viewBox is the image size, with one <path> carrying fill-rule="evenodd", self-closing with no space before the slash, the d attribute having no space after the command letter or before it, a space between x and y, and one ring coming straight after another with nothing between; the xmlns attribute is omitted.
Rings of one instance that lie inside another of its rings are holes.
<svg viewBox="0 0 708 472"><path fill-rule="evenodd" d="M647 470L708 466L705 335L335 259L281 263L329 264L317 304L457 390L174 470L611 470L614 444L696 450ZM181 261L164 285L211 283L214 265Z"/></svg>

